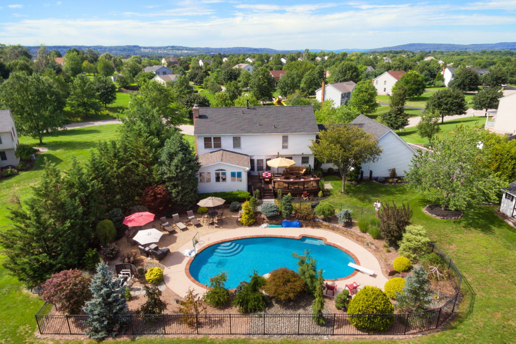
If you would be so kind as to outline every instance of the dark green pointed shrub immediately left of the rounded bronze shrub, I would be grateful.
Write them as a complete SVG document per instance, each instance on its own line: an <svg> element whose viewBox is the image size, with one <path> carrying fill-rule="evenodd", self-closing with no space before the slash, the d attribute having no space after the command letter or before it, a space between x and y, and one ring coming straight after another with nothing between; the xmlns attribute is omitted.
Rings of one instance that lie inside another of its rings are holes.
<svg viewBox="0 0 516 344"><path fill-rule="evenodd" d="M242 313L253 313L265 310L267 305L267 298L260 291L265 285L265 278L253 272L250 282L245 285L242 290L235 294L233 305Z"/></svg>

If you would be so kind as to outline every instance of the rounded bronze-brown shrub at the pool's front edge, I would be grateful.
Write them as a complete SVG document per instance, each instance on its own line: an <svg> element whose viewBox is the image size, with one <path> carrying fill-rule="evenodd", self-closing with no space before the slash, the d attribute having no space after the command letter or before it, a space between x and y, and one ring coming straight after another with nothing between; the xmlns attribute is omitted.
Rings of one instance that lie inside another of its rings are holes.
<svg viewBox="0 0 516 344"><path fill-rule="evenodd" d="M299 275L287 268L272 271L267 278L264 290L279 301L291 301L305 291L307 284Z"/></svg>

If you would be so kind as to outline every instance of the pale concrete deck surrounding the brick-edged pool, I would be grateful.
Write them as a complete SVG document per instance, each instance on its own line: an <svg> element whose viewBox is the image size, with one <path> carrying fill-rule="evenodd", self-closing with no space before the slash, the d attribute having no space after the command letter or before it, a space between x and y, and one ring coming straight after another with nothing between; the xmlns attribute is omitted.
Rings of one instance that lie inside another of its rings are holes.
<svg viewBox="0 0 516 344"><path fill-rule="evenodd" d="M310 228L310 227L301 227L301 228L280 228L280 227L267 227L267 228L235 228L228 230L218 230L213 232L208 232L203 234L202 237L199 238L199 243L196 246L197 251L205 246L209 246L216 242L220 241L228 241L233 238L241 238L241 237L253 237L253 236L281 236L281 237L290 237L290 238L299 238L300 236L311 236L311 237L319 237L325 238L327 243L335 244L337 246L341 246L345 248L347 251L352 253L352 255L356 256L358 259L359 265L364 268L373 270L375 272L374 275L369 276L360 271L356 271L349 277L341 280L330 280L328 283L331 285L336 285L337 290L335 292L335 296L337 293L340 293L346 284L351 284L352 282L357 282L360 284L360 288L364 286L375 286L383 290L383 286L385 282L387 282L388 278L386 278L381 270L380 263L375 258L375 256L367 251L366 248L357 244L354 241L338 234L336 232L332 232L325 229L318 228ZM185 238L186 239L186 238ZM181 243L179 243L181 244ZM174 245L175 246L175 245ZM164 280L165 284L168 288L174 291L176 294L184 296L189 288L195 290L197 293L203 294L207 289L201 287L200 283L193 282L190 277L187 275L185 269L187 264L189 263L189 257L183 256L183 252L188 249L192 249L192 241L191 238L188 242L185 242L182 246L180 246L177 251L172 252L171 255L165 260L161 261L163 265L165 265L164 270ZM250 271L252 271L252 267L249 267ZM359 289L360 289L359 288ZM331 296L331 293L329 293Z"/></svg>

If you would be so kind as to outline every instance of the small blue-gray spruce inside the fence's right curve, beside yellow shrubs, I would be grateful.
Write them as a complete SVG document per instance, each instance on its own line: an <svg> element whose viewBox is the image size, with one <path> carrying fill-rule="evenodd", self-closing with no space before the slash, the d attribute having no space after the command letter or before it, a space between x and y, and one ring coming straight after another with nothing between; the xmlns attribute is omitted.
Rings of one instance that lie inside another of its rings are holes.
<svg viewBox="0 0 516 344"><path fill-rule="evenodd" d="M413 270L407 276L403 293L396 292L397 308L403 312L420 312L426 310L432 304L433 291L430 280L423 267Z"/></svg>

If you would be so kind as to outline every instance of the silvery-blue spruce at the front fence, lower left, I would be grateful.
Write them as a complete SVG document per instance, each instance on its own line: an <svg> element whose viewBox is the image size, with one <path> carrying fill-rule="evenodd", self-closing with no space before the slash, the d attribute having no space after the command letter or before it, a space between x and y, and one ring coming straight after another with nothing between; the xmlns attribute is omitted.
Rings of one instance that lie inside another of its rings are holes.
<svg viewBox="0 0 516 344"><path fill-rule="evenodd" d="M97 264L90 284L92 299L83 307L89 315L86 334L91 339L102 340L125 332L128 319L122 315L128 314L128 309L124 289L120 288L120 279L112 277L106 264Z"/></svg>

